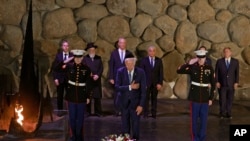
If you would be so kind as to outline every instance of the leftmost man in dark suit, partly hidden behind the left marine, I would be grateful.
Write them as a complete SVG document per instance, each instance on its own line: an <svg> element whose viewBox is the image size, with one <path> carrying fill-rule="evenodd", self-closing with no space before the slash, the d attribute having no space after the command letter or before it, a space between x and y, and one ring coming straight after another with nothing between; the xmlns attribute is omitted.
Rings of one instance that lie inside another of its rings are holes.
<svg viewBox="0 0 250 141"><path fill-rule="evenodd" d="M69 42L67 40L62 40L60 46L61 51L56 54L52 70L54 82L57 87L57 109L59 110L59 116L63 113L61 110L63 110L63 97L64 91L67 88L68 80L65 69L55 69L55 67L61 64L64 60L73 56L73 54L69 52Z"/></svg>

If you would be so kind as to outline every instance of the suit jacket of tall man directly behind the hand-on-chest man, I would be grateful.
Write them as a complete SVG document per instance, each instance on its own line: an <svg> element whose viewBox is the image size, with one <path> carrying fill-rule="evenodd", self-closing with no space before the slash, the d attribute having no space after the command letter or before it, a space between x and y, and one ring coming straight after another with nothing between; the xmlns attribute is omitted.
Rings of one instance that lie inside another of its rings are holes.
<svg viewBox="0 0 250 141"><path fill-rule="evenodd" d="M126 50L125 56L127 56L128 54L132 54L132 53ZM109 60L109 75L108 75L109 79L115 80L117 69L119 69L120 67L124 67L124 66L125 66L124 61L121 62L118 49L114 50L111 53L110 60Z"/></svg>

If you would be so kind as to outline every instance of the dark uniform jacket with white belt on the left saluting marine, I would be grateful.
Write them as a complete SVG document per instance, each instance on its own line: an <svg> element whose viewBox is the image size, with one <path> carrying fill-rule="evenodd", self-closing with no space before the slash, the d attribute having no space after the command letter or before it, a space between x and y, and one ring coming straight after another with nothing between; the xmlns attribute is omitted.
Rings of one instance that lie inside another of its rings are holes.
<svg viewBox="0 0 250 141"><path fill-rule="evenodd" d="M65 95L65 100L74 103L84 103L89 95L89 81L91 77L91 71L85 64L67 64L67 77L68 87ZM84 85L85 86L82 86Z"/></svg>

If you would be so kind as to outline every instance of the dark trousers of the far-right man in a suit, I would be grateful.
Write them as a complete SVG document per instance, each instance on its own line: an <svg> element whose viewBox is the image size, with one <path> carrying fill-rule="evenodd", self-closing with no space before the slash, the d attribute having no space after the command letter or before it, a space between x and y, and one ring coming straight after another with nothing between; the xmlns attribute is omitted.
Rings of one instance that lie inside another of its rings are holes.
<svg viewBox="0 0 250 141"><path fill-rule="evenodd" d="M232 115L233 98L233 87L221 87L219 89L220 114L228 116Z"/></svg>

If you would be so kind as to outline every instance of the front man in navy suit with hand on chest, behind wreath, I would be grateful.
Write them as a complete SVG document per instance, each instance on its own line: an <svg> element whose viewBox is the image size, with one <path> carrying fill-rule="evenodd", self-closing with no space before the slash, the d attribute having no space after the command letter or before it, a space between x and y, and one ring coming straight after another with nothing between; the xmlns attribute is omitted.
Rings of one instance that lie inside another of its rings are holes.
<svg viewBox="0 0 250 141"><path fill-rule="evenodd" d="M136 58L133 55L126 57L126 67L121 67L117 71L115 88L121 97L122 132L138 140L140 114L146 98L146 76L141 68L135 67L135 63Z"/></svg>

